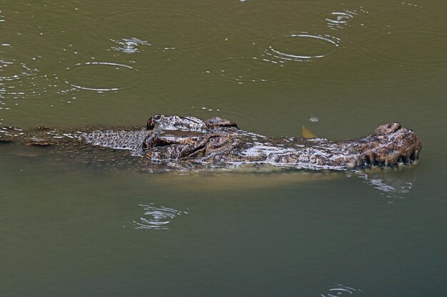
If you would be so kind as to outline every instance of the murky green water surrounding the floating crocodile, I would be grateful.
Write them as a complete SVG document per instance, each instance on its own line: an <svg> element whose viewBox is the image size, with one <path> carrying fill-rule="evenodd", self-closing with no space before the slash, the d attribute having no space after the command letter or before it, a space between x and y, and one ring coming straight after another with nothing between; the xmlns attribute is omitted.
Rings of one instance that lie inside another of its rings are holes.
<svg viewBox="0 0 447 297"><path fill-rule="evenodd" d="M218 115L333 139L399 121L396 172L143 173L0 146L0 296L443 296L442 1L3 1L0 123ZM316 119L316 120L310 120Z"/></svg>

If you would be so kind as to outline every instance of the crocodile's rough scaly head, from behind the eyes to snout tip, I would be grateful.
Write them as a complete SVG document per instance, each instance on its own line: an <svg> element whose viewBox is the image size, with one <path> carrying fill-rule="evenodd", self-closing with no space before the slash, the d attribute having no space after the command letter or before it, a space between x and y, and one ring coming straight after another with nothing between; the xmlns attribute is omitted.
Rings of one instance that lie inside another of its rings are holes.
<svg viewBox="0 0 447 297"><path fill-rule="evenodd" d="M238 129L221 118L154 115L143 143L149 160L193 159L208 164L268 163L310 169L349 169L411 165L421 142L399 123L381 125L357 140L265 137ZM195 133L191 135L191 133Z"/></svg>

